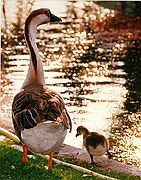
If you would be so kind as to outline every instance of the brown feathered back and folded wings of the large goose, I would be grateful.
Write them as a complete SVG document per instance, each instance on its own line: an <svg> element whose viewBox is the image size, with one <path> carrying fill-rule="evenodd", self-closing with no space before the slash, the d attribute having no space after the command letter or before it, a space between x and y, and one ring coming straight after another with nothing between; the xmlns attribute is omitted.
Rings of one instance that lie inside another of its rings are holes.
<svg viewBox="0 0 141 180"><path fill-rule="evenodd" d="M19 138L21 130L45 121L58 121L71 130L71 119L63 99L49 89L29 89L19 92L12 104L12 119Z"/></svg>

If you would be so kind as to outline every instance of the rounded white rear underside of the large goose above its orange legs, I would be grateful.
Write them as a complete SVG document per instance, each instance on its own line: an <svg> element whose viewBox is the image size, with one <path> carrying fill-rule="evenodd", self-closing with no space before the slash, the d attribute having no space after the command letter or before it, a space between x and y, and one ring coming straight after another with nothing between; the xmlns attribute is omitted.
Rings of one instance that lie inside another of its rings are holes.
<svg viewBox="0 0 141 180"><path fill-rule="evenodd" d="M21 138L32 151L49 154L63 143L66 133L67 129L64 125L47 122L39 123L34 128L24 129Z"/></svg>

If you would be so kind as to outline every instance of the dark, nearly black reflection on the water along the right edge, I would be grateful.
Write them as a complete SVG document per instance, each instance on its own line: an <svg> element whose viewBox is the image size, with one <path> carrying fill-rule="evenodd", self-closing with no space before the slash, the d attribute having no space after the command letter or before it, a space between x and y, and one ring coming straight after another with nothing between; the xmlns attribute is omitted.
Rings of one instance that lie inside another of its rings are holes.
<svg viewBox="0 0 141 180"><path fill-rule="evenodd" d="M127 49L125 58L126 84L128 90L125 109L137 112L141 109L141 41L133 41L133 47Z"/></svg>

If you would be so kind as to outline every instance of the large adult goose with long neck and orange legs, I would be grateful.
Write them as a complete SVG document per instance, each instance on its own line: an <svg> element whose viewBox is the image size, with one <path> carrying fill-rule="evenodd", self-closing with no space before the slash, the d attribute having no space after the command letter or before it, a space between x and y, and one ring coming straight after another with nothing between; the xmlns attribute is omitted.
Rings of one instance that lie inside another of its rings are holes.
<svg viewBox="0 0 141 180"><path fill-rule="evenodd" d="M30 63L25 81L13 98L12 121L23 147L23 162L28 162L28 149L49 154L47 167L52 167L53 152L64 142L71 119L64 100L58 92L45 84L44 71L36 44L36 29L48 22L61 21L47 8L31 12L25 21L25 39L29 47Z"/></svg>

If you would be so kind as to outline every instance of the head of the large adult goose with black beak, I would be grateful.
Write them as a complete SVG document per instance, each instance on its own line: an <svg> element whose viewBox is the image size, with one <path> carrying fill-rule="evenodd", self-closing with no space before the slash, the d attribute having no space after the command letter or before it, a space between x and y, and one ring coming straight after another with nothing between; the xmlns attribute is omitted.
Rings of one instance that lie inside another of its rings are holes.
<svg viewBox="0 0 141 180"><path fill-rule="evenodd" d="M55 16L50 12L48 8L40 8L32 11L26 20L26 24L36 24L39 26L48 22L62 21L59 17Z"/></svg>

